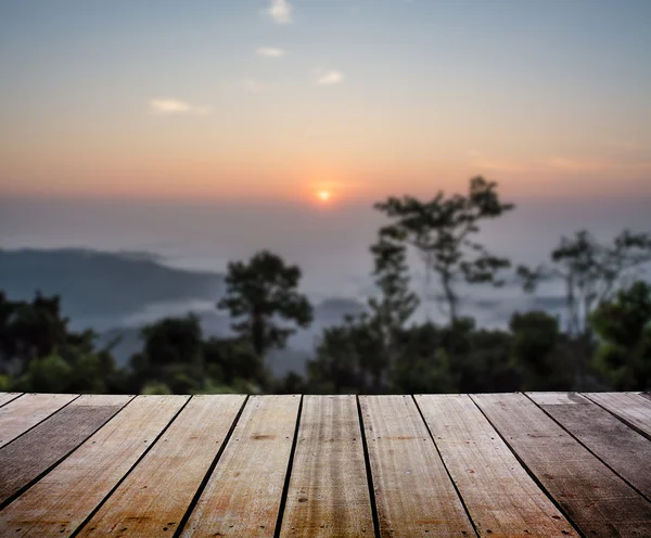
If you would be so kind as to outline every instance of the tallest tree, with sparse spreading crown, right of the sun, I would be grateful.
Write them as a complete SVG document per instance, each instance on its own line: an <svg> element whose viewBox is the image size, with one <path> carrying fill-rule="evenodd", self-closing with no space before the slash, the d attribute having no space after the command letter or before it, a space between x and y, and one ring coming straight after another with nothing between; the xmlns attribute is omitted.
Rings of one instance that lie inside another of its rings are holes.
<svg viewBox="0 0 651 538"><path fill-rule="evenodd" d="M414 247L425 269L438 277L452 325L459 319L460 281L502 284L498 271L510 267L510 261L489 253L473 236L480 232L481 221L499 217L513 207L500 201L497 183L481 176L470 180L467 195L446 197L441 191L429 202L404 196L375 204L376 209L392 219L391 225L381 229L381 236Z"/></svg>

